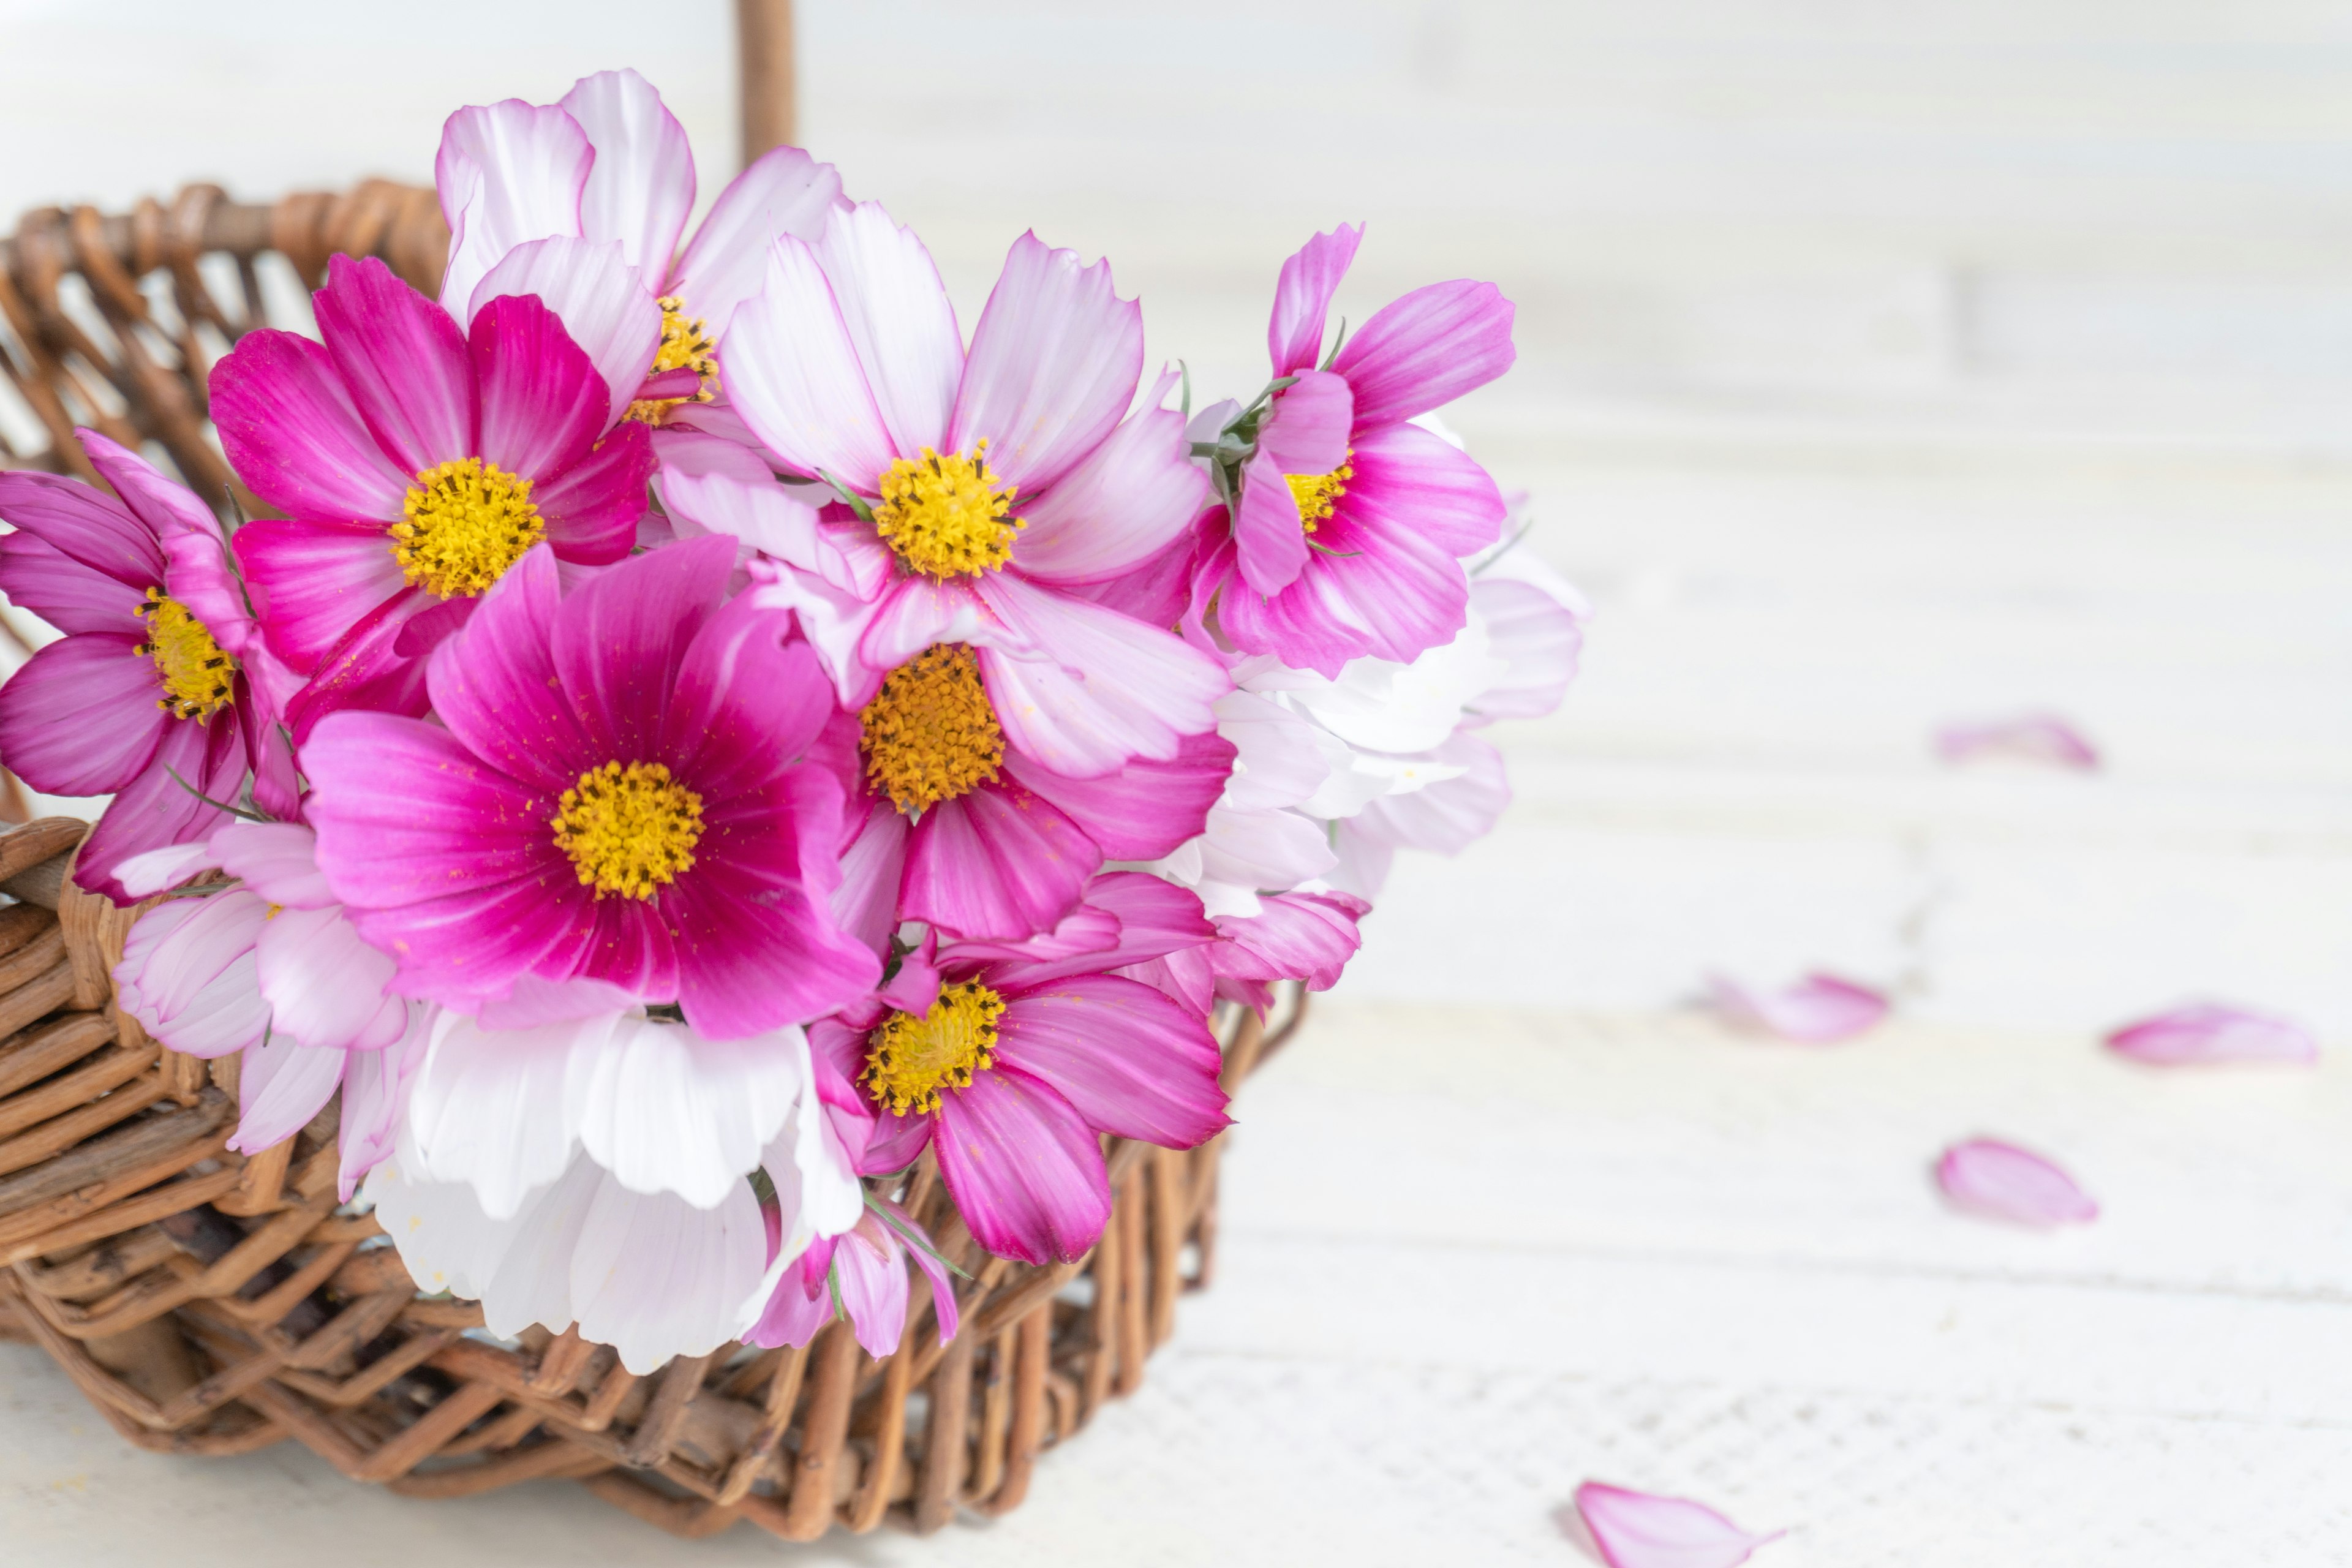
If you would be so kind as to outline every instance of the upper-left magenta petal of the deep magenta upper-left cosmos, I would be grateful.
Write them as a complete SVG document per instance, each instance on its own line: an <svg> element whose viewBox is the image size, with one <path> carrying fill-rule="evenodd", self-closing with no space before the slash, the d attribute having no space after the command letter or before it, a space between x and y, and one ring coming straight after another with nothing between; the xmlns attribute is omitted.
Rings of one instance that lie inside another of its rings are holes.
<svg viewBox="0 0 2352 1568"><path fill-rule="evenodd" d="M292 331L247 331L212 367L212 423L238 477L289 517L390 520L416 480L369 435L327 350Z"/></svg>

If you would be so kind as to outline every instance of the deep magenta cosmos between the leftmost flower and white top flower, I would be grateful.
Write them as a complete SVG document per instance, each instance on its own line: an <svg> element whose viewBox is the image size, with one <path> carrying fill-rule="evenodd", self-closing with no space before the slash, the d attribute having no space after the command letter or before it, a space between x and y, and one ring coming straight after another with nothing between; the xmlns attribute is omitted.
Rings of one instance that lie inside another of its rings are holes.
<svg viewBox="0 0 2352 1568"><path fill-rule="evenodd" d="M492 299L461 334L381 261L336 256L313 299L325 346L249 331L212 369L228 461L285 512L235 548L263 639L310 677L296 741L334 708L421 715L426 654L539 541L628 555L654 463L536 296Z"/></svg>

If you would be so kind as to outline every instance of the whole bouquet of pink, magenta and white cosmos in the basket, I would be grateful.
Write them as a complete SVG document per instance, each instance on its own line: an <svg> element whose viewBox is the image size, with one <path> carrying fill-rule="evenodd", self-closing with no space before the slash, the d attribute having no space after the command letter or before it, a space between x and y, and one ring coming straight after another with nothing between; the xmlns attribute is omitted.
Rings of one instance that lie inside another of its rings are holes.
<svg viewBox="0 0 2352 1568"><path fill-rule="evenodd" d="M967 341L797 148L680 247L628 71L459 110L435 176L440 299L339 256L315 339L212 369L270 515L96 433L111 496L0 475L64 632L0 757L113 795L75 879L153 900L118 999L238 1058L230 1147L339 1098L343 1201L494 1333L887 1354L920 1267L950 1335L924 1152L978 1246L1084 1255L1103 1135L1225 1126L1211 1013L1331 985L1392 853L1501 811L1472 731L1583 614L1432 418L1512 308L1334 331L1315 235L1195 411L1108 263L1023 235Z"/></svg>

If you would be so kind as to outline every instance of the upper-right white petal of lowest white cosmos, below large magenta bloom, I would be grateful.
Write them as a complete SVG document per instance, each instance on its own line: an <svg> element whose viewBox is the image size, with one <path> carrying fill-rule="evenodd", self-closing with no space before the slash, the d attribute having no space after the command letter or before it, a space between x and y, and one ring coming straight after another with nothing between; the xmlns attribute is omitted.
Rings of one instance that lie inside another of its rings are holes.
<svg viewBox="0 0 2352 1568"><path fill-rule="evenodd" d="M750 1039L623 1018L574 1077L581 1145L630 1192L724 1199L760 1164L809 1081L797 1027Z"/></svg>

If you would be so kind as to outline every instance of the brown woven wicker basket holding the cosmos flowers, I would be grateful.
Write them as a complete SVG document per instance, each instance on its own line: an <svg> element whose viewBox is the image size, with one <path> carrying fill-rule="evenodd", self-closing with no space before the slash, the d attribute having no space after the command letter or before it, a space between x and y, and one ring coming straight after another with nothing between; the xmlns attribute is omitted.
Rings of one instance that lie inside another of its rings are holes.
<svg viewBox="0 0 2352 1568"><path fill-rule="evenodd" d="M430 289L445 247L433 193L381 181L275 207L200 186L129 219L38 212L0 240L0 381L49 442L12 447L0 418L0 465L94 477L71 435L89 423L226 508L205 374L266 322L256 261L315 282L332 252L379 254ZM0 1335L47 1349L139 1448L294 1439L409 1497L579 1479L677 1535L934 1530L957 1507L1016 1507L1037 1453L1143 1380L1178 1293L1209 1279L1221 1140L1112 1140L1110 1227L1051 1269L988 1258L924 1154L901 1201L967 1269L948 1347L920 1276L903 1349L880 1361L847 1324L649 1378L574 1331L489 1338L480 1307L419 1298L376 1222L336 1211L334 1105L266 1154L228 1152L235 1063L165 1051L113 1006L139 910L71 884L82 832L0 835L16 900L0 903ZM1291 992L1272 1032L1221 1020L1228 1088L1296 1027Z"/></svg>

